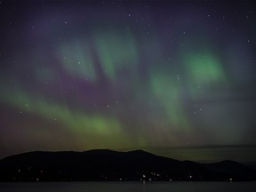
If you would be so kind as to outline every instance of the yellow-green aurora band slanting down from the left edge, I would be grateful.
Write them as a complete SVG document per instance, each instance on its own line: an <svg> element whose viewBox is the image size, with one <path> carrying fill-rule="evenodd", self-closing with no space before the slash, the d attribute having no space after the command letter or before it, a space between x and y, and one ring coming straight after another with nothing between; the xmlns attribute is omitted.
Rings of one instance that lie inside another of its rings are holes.
<svg viewBox="0 0 256 192"><path fill-rule="evenodd" d="M1 100L3 100L3 94ZM88 115L82 111L70 111L65 105L48 102L36 96L29 97L25 92L13 92L5 97L9 105L31 114L58 121L74 132L115 135L120 133L121 124L114 116Z"/></svg>

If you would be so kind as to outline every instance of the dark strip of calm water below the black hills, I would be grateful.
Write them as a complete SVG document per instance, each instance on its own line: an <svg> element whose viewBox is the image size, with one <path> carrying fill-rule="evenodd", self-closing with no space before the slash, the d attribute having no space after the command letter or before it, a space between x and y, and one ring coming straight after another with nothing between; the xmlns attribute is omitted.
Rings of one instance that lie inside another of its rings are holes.
<svg viewBox="0 0 256 192"><path fill-rule="evenodd" d="M256 182L17 182L1 192L255 192Z"/></svg>

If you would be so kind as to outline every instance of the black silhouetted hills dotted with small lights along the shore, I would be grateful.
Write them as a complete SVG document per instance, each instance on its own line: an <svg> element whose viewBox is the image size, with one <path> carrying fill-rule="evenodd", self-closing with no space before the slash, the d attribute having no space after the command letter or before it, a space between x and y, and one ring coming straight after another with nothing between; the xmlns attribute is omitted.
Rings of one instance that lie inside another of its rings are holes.
<svg viewBox="0 0 256 192"><path fill-rule="evenodd" d="M198 164L142 150L29 152L0 160L0 181L70 180L256 180L256 171L232 161Z"/></svg>

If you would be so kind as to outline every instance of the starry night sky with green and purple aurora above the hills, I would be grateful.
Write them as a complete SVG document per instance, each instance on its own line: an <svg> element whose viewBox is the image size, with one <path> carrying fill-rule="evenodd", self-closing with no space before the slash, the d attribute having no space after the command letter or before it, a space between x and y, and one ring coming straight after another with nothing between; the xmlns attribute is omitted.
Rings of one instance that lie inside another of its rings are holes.
<svg viewBox="0 0 256 192"><path fill-rule="evenodd" d="M256 162L256 3L2 1L0 88L0 157Z"/></svg>

